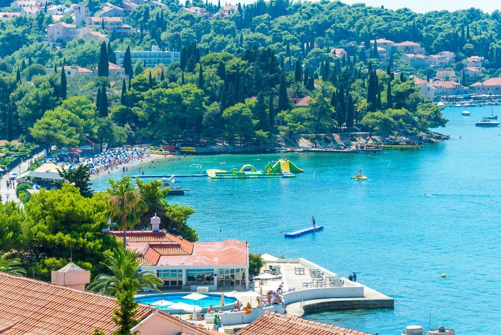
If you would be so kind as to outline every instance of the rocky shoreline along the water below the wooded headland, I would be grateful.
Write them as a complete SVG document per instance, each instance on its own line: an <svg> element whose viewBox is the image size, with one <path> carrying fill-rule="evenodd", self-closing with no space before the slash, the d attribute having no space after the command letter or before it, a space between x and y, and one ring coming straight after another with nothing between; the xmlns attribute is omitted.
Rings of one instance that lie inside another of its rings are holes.
<svg viewBox="0 0 501 335"><path fill-rule="evenodd" d="M378 145L422 145L425 143L437 143L449 139L448 135L434 131L420 132L419 134L407 134L397 136L380 136L376 133L354 132L340 134L315 134L295 135L283 138L277 135L270 143L259 146L239 145L208 145L196 147L196 154L249 154L270 152L301 152L327 149L339 152L351 152L360 147Z"/></svg>

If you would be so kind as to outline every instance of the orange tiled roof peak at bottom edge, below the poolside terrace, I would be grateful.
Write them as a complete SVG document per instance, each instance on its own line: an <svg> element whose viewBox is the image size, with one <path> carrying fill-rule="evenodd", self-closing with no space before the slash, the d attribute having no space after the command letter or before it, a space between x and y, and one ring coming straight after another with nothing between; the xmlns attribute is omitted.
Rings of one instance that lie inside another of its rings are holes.
<svg viewBox="0 0 501 335"><path fill-rule="evenodd" d="M236 335L367 335L368 332L341 328L298 316L266 312Z"/></svg>

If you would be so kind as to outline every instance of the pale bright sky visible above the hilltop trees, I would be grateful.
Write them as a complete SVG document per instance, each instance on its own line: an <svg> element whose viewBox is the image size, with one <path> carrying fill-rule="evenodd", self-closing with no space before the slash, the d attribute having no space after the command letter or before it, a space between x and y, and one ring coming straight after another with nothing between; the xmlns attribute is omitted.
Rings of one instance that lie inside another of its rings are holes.
<svg viewBox="0 0 501 335"><path fill-rule="evenodd" d="M217 4L217 0L209 0L210 2ZM297 0L294 0L297 1ZM315 0L313 0L315 1ZM501 10L500 0L341 0L345 4L358 4L364 3L367 6L389 8L396 10L402 7L407 7L418 13L425 13L429 11L456 11L460 9L468 9L471 7L479 8L484 12L492 13L494 10ZM237 4L250 4L254 3L254 0L221 0L221 5L227 3L228 5Z"/></svg>

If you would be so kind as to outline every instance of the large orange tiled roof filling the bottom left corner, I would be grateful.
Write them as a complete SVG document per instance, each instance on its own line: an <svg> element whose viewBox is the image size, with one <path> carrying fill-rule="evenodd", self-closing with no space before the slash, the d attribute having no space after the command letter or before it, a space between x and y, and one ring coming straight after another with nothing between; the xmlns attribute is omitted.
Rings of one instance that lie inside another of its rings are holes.
<svg viewBox="0 0 501 335"><path fill-rule="evenodd" d="M66 286L0 273L0 329L5 335L92 334L95 327L110 334L116 299ZM137 319L152 312L139 306Z"/></svg>

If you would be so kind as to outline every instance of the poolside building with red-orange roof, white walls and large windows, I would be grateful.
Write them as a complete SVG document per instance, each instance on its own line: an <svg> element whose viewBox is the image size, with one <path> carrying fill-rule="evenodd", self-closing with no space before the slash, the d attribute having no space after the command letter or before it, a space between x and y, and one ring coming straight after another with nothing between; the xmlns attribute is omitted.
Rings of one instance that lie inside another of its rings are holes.
<svg viewBox="0 0 501 335"><path fill-rule="evenodd" d="M127 248L139 252L141 271L155 273L163 280L163 289L249 288L247 242L189 242L160 230L159 225L160 218L154 216L152 230L127 232ZM123 242L122 231L105 233Z"/></svg>

